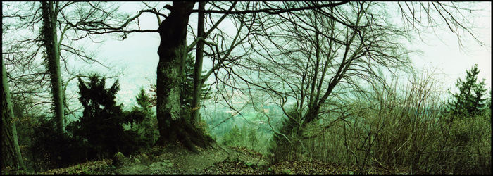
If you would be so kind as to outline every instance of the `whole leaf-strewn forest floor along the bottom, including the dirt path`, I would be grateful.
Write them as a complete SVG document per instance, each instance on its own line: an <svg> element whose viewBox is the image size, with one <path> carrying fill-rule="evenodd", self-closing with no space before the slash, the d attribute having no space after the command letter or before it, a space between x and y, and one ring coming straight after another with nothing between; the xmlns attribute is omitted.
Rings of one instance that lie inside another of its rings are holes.
<svg viewBox="0 0 493 176"><path fill-rule="evenodd" d="M184 147L154 147L137 156L89 161L40 174L356 174L358 168L317 161L269 164L265 156L245 148L216 146L193 153ZM368 174L407 174L396 168L371 167Z"/></svg>

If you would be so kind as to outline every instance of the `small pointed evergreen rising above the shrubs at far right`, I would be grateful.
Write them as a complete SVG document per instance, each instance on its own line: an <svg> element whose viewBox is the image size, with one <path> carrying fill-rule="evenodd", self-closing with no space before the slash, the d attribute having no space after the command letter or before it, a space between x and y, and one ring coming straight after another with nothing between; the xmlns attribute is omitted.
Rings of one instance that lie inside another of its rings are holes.
<svg viewBox="0 0 493 176"><path fill-rule="evenodd" d="M487 102L485 99L486 89L485 80L478 82L478 64L470 70L466 70L466 80L460 78L456 82L459 92L452 94L454 101L450 103L451 112L460 117L471 118L479 115L485 108Z"/></svg>

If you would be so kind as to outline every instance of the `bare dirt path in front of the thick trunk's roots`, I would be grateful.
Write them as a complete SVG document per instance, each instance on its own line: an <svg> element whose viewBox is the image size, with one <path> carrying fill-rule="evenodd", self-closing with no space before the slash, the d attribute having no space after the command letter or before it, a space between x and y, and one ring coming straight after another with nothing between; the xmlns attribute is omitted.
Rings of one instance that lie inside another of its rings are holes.
<svg viewBox="0 0 493 176"><path fill-rule="evenodd" d="M115 173L204 174L206 173L206 168L211 168L215 163L222 161L237 160L243 163L267 163L261 156L224 146L215 145L208 149L199 149L199 151L201 153L193 153L182 147L154 148L144 153L144 155L141 153L139 156L129 156L125 164L115 169ZM146 156L149 159L146 159Z"/></svg>

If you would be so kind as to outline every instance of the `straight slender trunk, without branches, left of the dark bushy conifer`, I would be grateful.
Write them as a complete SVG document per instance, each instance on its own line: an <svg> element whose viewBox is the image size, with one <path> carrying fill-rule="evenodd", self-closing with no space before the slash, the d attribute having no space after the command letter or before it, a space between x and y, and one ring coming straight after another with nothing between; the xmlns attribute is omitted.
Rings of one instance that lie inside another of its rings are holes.
<svg viewBox="0 0 493 176"><path fill-rule="evenodd" d="M42 39L46 47L46 60L48 61L48 72L51 78L56 130L58 133L63 134L65 132L65 115L63 113L60 50L58 49L58 37L56 34L56 8L54 10L53 1L42 1L41 4L43 16Z"/></svg>

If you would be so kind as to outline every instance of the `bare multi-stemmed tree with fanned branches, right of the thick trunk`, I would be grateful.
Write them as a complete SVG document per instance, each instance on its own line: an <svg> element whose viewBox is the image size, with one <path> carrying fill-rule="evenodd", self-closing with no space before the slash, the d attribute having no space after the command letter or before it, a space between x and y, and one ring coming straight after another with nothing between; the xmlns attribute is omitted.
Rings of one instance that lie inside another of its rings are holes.
<svg viewBox="0 0 493 176"><path fill-rule="evenodd" d="M404 24L412 23L413 27L401 28L400 25L390 23L391 17L382 14L393 4L259 4L274 9L289 7L304 11L267 11L265 13L271 15L254 20L253 26L260 26L256 28L260 30L251 32L253 34L243 46L244 51L251 49L251 52L246 52L247 57L236 59L224 67L217 80L246 94L252 89L265 92L267 97L277 102L288 119L289 130L275 133L286 139L286 144L308 138L303 135L306 125L333 112L330 108L332 102L347 98L341 95L355 91L365 94L367 84L386 84L381 76L382 70L389 74L394 74L396 69L411 70L411 61L407 57L411 51L404 47L402 41L409 40L413 30L425 30L414 27L415 23L420 22L416 20L418 13L405 11L404 8L400 8L401 14L407 17L404 18ZM455 4L424 4L419 5L421 11L426 11L423 18L428 18L429 24L444 21L449 25L454 24L455 28L451 27L451 32L465 30L475 37L465 25L467 21L454 18L452 13L464 9ZM398 3L395 7L401 5ZM309 6L319 8L305 8ZM434 18L435 13L448 15ZM292 104L294 109L290 110ZM292 136L292 139L287 136Z"/></svg>

